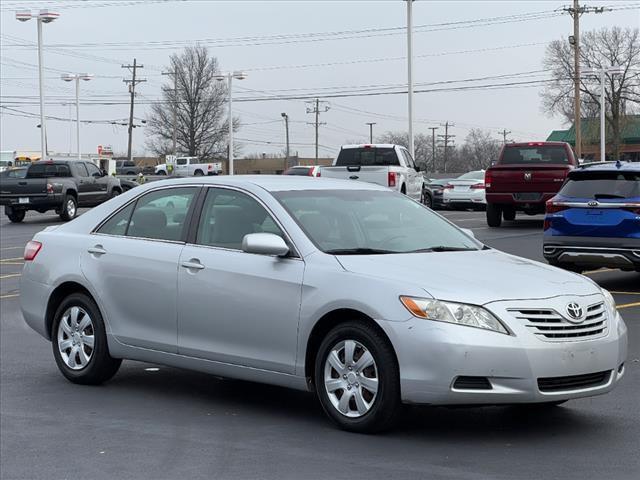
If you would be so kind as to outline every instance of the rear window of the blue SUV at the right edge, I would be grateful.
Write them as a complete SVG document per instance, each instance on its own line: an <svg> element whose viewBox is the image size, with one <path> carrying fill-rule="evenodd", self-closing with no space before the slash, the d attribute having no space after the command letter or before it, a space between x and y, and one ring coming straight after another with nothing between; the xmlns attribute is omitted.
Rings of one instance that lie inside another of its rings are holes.
<svg viewBox="0 0 640 480"><path fill-rule="evenodd" d="M640 173L572 172L560 193L595 199L640 197Z"/></svg>

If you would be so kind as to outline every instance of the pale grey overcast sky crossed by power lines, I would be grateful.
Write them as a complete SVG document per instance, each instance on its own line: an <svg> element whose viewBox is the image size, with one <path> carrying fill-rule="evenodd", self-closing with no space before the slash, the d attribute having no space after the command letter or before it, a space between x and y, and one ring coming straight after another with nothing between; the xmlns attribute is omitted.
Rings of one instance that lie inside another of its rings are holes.
<svg viewBox="0 0 640 480"><path fill-rule="evenodd" d="M545 139L562 128L559 117L550 118L540 108L540 89L533 82L548 78L542 70L545 44L572 34L568 14L553 11L567 5L558 1L428 1L414 3L414 82L416 90L518 83L493 90L423 92L415 95L415 131L446 121L461 144L468 130L481 127L495 138L503 128L514 140ZM633 6L633 0L581 2L612 7ZM167 81L160 72L171 53L185 44L206 44L222 70L244 70L246 80L236 82L234 97L268 97L307 93L367 93L397 91L406 86L406 3L393 1L11 1L0 2L1 18L1 136L2 150L39 150L38 72L36 22L21 23L14 12L24 8L52 7L60 18L44 25L44 43L65 47L45 51L47 115L75 118L69 103L75 101L72 84L62 72L90 72L96 77L81 84L84 120L128 118L127 87L121 68L137 58L144 65L138 86L136 118L143 119L149 102L159 98ZM456 23L493 17L543 12L534 19L513 17L491 22ZM487 25L487 23L491 23ZM640 10L626 9L584 15L582 31L602 27L638 27ZM371 30L362 32L363 30ZM353 32L335 33L328 32ZM302 34L293 36L296 34ZM284 36L274 39L273 36ZM359 38L353 38L353 37ZM241 37L258 37L238 40ZM265 38L267 37L267 38ZM351 37L351 38L344 38ZM222 39L225 42L220 42ZM274 42L277 42L274 44ZM330 65L327 65L330 64ZM278 67L278 68L271 68ZM511 75L495 78L500 75ZM433 84L491 77L476 82ZM421 85L422 84L422 85ZM374 85L375 87L369 87ZM407 96L352 96L327 99L329 111L320 130L321 156L333 156L346 141L367 141L366 122L376 122L374 136L407 129ZM116 105L95 105L98 102ZM65 103L66 105L63 105ZM236 134L243 153L279 152L284 143L281 112L291 119L292 152L313 156L314 129L306 122L304 100L237 102L234 110L242 126ZM12 109L12 110L9 110ZM49 150L75 150L75 124L47 121ZM444 133L444 128L438 133ZM71 136L73 135L73 136ZM82 151L98 145L126 152L125 126L82 125ZM134 152L145 151L144 128L134 130Z"/></svg>

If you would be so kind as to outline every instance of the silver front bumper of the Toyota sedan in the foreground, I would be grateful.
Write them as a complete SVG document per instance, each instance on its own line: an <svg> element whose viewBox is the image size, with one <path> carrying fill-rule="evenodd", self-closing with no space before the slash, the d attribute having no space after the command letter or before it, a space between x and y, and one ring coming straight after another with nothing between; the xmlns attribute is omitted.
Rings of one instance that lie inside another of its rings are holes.
<svg viewBox="0 0 640 480"><path fill-rule="evenodd" d="M487 308L504 319L510 303L496 302ZM406 403L495 405L568 400L607 393L624 375L627 330L619 314L609 319L605 336L566 342L542 341L512 320L506 324L513 335L417 318L380 324L398 355ZM598 372L605 372L605 378L586 387L547 391L538 383L539 379ZM490 389L457 388L454 383L459 377L484 377Z"/></svg>

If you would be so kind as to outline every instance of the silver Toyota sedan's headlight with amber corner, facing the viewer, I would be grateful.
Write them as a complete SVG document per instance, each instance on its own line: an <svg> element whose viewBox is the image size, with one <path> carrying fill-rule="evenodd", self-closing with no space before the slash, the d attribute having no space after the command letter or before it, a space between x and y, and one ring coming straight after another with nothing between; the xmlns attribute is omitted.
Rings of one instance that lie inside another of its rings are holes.
<svg viewBox="0 0 640 480"><path fill-rule="evenodd" d="M458 325L509 334L500 320L482 307L415 297L400 297L400 301L407 310L418 318L457 323Z"/></svg>

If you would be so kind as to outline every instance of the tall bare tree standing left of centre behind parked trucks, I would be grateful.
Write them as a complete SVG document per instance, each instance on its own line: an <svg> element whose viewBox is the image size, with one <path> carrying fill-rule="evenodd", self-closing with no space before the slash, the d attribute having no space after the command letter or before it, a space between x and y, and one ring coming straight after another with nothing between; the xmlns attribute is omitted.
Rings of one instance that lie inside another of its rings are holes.
<svg viewBox="0 0 640 480"><path fill-rule="evenodd" d="M195 46L172 55L170 65L173 74L162 86L162 101L152 105L147 119L147 147L159 155L172 153L175 107L178 152L200 158L226 155L227 88L215 79L218 61L206 47Z"/></svg>

